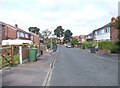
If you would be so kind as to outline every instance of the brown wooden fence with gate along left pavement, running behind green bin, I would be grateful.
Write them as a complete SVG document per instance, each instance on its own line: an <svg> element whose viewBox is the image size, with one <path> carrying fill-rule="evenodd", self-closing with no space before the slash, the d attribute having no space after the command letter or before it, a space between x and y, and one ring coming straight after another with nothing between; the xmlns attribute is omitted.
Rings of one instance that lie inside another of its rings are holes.
<svg viewBox="0 0 120 88"><path fill-rule="evenodd" d="M46 46L40 46L39 44L1 45L0 68L20 64L22 63L20 59L22 60L28 59L29 48L37 48L38 53L41 53L41 51L46 50Z"/></svg>

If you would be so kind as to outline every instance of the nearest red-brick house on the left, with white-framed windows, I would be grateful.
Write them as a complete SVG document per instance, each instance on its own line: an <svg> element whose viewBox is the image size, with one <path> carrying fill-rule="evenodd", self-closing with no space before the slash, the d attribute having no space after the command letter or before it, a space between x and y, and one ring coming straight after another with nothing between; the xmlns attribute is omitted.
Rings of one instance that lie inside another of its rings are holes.
<svg viewBox="0 0 120 88"><path fill-rule="evenodd" d="M15 26L0 22L0 30L2 30L2 40L8 39L22 39L22 40L31 40L31 35L18 28L18 25Z"/></svg>

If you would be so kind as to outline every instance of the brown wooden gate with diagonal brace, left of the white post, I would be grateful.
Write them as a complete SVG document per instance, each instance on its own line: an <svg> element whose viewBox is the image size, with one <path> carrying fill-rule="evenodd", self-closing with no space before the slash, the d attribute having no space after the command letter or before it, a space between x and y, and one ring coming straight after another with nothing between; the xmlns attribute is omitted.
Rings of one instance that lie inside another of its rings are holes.
<svg viewBox="0 0 120 88"><path fill-rule="evenodd" d="M2 46L0 48L0 68L13 64L19 64L19 46Z"/></svg>

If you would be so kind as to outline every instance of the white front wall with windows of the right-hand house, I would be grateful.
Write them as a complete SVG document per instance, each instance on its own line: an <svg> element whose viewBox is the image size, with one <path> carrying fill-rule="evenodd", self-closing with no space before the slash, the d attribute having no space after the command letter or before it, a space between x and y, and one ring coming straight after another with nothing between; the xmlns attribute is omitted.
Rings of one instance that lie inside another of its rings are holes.
<svg viewBox="0 0 120 88"><path fill-rule="evenodd" d="M110 41L110 24L107 24L101 28L98 28L93 31L93 40L94 41Z"/></svg>

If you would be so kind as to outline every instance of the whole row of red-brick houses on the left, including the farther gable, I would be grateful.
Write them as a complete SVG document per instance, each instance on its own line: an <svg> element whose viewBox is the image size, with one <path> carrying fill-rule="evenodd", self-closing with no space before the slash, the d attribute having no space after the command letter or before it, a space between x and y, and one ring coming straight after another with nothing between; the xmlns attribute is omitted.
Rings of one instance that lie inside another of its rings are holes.
<svg viewBox="0 0 120 88"><path fill-rule="evenodd" d="M39 36L34 33L26 32L20 28L18 28L18 25L15 24L15 26L0 22L0 44L2 43L2 40L31 40L33 43L40 43Z"/></svg>

